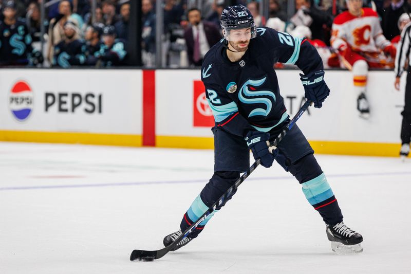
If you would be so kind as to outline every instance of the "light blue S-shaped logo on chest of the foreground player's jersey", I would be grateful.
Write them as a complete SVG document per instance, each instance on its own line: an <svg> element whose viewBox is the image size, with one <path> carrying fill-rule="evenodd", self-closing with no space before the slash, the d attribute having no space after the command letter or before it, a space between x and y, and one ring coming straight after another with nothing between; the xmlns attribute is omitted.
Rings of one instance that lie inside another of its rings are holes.
<svg viewBox="0 0 411 274"><path fill-rule="evenodd" d="M269 96L272 97L274 102L275 102L275 95L272 91L270 90L256 90L255 87L262 85L266 81L267 77L264 77L263 79L260 80L248 80L247 82L242 85L240 88L240 92L238 93L238 99L242 103L245 104L265 104L266 108L254 108L248 117L253 117L257 115L261 116L268 116L268 114L271 112L272 108L272 102L269 98L261 97L261 96ZM257 97L257 98L246 98L247 97Z"/></svg>

